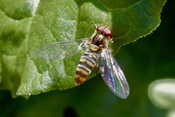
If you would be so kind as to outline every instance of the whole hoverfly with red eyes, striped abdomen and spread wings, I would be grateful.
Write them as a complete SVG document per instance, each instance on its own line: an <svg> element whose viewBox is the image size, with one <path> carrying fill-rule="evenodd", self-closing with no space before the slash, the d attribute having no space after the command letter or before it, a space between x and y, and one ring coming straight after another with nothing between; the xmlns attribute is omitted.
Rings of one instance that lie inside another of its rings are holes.
<svg viewBox="0 0 175 117"><path fill-rule="evenodd" d="M40 46L35 55L45 59L63 59L73 56L85 48L75 72L75 85L86 80L91 70L98 64L100 73L111 91L120 98L127 98L129 86L123 71L112 55L108 44L112 42L109 26L99 26L89 38L53 42Z"/></svg>

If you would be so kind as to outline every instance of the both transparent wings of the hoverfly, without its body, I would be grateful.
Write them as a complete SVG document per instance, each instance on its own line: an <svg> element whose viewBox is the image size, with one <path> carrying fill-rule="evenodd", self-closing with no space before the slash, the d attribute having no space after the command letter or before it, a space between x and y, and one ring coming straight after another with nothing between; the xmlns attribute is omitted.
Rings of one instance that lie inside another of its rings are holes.
<svg viewBox="0 0 175 117"><path fill-rule="evenodd" d="M83 38L45 44L36 49L35 56L42 59L64 59L89 48L88 41L89 38ZM111 91L120 98L127 98L129 95L127 80L108 48L102 50L98 66Z"/></svg>

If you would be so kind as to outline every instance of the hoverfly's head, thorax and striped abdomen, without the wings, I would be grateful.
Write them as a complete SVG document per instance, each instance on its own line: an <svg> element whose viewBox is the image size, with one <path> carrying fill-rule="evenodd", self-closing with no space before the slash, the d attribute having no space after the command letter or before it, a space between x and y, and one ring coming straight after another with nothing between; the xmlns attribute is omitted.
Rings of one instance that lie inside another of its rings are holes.
<svg viewBox="0 0 175 117"><path fill-rule="evenodd" d="M106 47L107 41L112 38L112 32L107 26L100 26L89 39L89 48L80 58L80 62L76 69L75 82L80 84L88 77L92 68L96 65L100 53Z"/></svg>

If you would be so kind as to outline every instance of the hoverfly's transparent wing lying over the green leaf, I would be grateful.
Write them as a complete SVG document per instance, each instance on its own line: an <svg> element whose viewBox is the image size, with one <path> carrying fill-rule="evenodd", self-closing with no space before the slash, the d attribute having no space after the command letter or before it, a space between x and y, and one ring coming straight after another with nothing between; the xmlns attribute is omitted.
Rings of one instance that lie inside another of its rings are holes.
<svg viewBox="0 0 175 117"><path fill-rule="evenodd" d="M35 56L42 59L63 59L87 48L89 38L48 43L35 50Z"/></svg>

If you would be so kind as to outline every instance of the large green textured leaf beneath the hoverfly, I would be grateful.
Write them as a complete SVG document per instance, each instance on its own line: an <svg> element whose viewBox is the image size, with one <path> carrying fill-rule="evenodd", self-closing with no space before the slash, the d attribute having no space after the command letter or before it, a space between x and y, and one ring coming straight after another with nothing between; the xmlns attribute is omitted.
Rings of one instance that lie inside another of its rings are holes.
<svg viewBox="0 0 175 117"><path fill-rule="evenodd" d="M111 49L118 50L156 29L165 2L0 0L0 87L11 90L13 96L73 87L82 53L43 60L34 56L39 46L90 37L95 25L108 24L114 37Z"/></svg>

